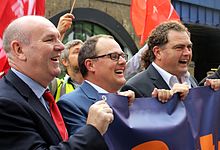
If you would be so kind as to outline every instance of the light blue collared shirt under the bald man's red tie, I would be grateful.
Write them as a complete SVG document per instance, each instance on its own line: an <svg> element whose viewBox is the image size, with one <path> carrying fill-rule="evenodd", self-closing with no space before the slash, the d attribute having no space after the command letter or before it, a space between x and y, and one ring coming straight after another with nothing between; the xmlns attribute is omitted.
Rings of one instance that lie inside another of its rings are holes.
<svg viewBox="0 0 220 150"><path fill-rule="evenodd" d="M11 68L11 70L22 80L24 81L30 89L34 92L34 94L38 97L40 102L44 105L46 110L49 111L48 103L44 100L43 94L45 92L45 88L42 87L39 83L36 81L32 80L30 77L26 76L25 74L15 70L14 68Z"/></svg>

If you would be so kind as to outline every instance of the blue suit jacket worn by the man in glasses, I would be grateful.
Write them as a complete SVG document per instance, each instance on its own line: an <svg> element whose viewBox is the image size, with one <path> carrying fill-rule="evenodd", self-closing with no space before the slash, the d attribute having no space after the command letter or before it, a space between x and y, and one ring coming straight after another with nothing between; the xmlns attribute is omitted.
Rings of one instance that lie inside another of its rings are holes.
<svg viewBox="0 0 220 150"><path fill-rule="evenodd" d="M57 104L70 135L86 124L89 107L97 100L98 91L85 81L73 92L61 96Z"/></svg>

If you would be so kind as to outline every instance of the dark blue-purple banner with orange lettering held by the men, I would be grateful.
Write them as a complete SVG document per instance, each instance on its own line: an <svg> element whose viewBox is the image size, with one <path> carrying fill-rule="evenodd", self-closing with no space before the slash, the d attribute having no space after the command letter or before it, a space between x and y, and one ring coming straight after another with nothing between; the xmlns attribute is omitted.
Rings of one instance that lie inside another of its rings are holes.
<svg viewBox="0 0 220 150"><path fill-rule="evenodd" d="M191 89L181 101L177 94L165 104L156 98L107 94L114 121L104 135L111 150L218 150L220 91Z"/></svg>

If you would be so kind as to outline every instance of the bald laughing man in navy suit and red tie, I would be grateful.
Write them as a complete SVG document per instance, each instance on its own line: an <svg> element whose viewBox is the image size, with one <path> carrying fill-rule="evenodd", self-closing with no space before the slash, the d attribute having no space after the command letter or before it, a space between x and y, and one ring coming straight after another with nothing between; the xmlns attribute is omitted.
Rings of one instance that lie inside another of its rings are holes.
<svg viewBox="0 0 220 150"><path fill-rule="evenodd" d="M5 30L3 48L11 69L0 79L1 149L108 149L102 135L113 114L105 101L91 105L85 126L69 137L48 91L60 73L64 45L59 38L56 27L41 16L20 17Z"/></svg>

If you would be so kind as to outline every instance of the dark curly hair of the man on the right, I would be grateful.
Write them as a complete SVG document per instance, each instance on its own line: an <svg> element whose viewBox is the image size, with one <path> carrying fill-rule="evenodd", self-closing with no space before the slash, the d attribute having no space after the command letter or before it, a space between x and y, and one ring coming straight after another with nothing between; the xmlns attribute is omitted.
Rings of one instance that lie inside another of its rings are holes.
<svg viewBox="0 0 220 150"><path fill-rule="evenodd" d="M186 32L190 36L188 29L181 22L171 20L158 25L151 31L151 34L148 37L148 51L144 52L141 56L143 68L147 68L150 63L154 61L155 55L153 53L153 48L155 46L161 47L168 43L168 33L170 30Z"/></svg>

